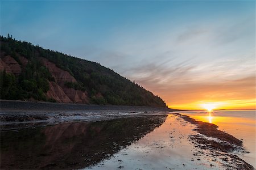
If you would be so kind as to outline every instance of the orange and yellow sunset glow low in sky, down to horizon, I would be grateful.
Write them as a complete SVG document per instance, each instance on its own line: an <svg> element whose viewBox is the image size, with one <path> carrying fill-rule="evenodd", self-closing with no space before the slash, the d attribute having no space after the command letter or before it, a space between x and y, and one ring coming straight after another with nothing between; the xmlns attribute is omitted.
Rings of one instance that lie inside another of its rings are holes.
<svg viewBox="0 0 256 170"><path fill-rule="evenodd" d="M205 109L202 104L213 104L214 109L255 109L255 76L226 80L222 82L191 82L168 84L159 88L155 84L146 84L155 94L166 101L169 108ZM166 89L168 88L168 90Z"/></svg>

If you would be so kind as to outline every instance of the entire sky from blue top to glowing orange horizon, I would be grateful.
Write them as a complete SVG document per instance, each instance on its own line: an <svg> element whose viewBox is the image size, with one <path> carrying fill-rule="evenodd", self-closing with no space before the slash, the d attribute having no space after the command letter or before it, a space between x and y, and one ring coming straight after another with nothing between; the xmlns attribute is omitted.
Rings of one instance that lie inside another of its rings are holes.
<svg viewBox="0 0 256 170"><path fill-rule="evenodd" d="M255 109L255 1L0 1L0 31L96 61L176 109Z"/></svg>

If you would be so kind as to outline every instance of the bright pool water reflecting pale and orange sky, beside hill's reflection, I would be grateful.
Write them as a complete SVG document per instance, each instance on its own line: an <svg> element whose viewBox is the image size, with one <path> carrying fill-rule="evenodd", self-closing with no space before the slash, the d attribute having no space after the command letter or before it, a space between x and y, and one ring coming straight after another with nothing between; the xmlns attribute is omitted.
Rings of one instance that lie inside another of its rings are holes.
<svg viewBox="0 0 256 170"><path fill-rule="evenodd" d="M225 169L210 161L209 155L195 155L197 148L188 141L189 135L196 134L193 128L194 125L169 114L159 128L85 169Z"/></svg>

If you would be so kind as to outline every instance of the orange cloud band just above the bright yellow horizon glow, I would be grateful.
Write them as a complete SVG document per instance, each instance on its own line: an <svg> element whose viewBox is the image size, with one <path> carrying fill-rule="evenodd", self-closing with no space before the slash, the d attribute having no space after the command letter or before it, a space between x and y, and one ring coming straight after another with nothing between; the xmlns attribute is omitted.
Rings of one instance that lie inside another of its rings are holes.
<svg viewBox="0 0 256 170"><path fill-rule="evenodd" d="M169 105L182 105L195 101L225 101L255 99L255 75L224 82L193 82L175 84L170 82L162 88L156 84L146 84L148 88L163 97ZM255 103L254 103L255 104Z"/></svg>

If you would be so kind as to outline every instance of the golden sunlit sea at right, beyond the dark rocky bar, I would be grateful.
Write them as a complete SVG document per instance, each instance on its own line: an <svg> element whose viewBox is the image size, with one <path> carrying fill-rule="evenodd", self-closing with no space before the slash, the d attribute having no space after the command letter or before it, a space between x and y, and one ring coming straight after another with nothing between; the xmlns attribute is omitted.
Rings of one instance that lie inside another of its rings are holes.
<svg viewBox="0 0 256 170"><path fill-rule="evenodd" d="M238 154L240 158L256 167L256 112L255 111L192 111L180 112L196 120L217 125L238 139L250 153Z"/></svg>

